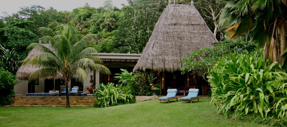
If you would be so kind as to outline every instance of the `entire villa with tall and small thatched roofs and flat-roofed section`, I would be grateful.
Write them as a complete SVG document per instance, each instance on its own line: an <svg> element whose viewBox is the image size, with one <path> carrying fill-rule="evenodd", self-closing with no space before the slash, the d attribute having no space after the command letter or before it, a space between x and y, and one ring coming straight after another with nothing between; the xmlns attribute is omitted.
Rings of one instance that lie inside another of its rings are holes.
<svg viewBox="0 0 287 127"><path fill-rule="evenodd" d="M169 1L170 2L170 1ZM80 93L88 93L85 88L91 84L98 86L100 83L115 82L113 79L120 68L128 71L160 72L160 94L165 94L168 88L197 88L199 95L207 95L207 82L198 75L181 74L181 59L190 55L192 51L212 47L217 42L216 37L210 31L205 21L193 5L180 5L169 3L154 27L154 31L141 54L98 53L93 54L103 61L111 75L100 74L97 71L90 72L88 79L82 84L74 77L68 84L69 90L74 86L79 87ZM40 43L40 42L39 42ZM50 48L50 44L42 44ZM40 51L31 50L27 58L32 58ZM30 74L38 68L21 66L17 72L17 78L22 80L14 86L16 95L26 93L47 93L49 90L62 91L65 87L61 75L50 79L39 79L27 82ZM185 90L184 90L185 91Z"/></svg>

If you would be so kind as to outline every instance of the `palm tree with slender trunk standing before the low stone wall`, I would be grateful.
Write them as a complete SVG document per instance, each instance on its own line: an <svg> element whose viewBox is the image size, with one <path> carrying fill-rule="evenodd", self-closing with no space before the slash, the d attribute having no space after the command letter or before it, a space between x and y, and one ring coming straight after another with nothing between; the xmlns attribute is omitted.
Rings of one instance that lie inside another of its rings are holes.
<svg viewBox="0 0 287 127"><path fill-rule="evenodd" d="M27 49L37 49L42 51L32 59L25 59L23 65L40 67L34 71L28 82L39 78L53 78L61 75L66 86L66 108L70 108L68 82L72 77L77 77L80 82L87 79L88 72L98 70L101 73L110 74L105 66L101 65L102 60L92 53L97 53L92 47L85 48L87 41L94 35L86 35L79 41L75 36L75 29L71 23L59 24L53 22L49 26L39 28L43 34L41 40L51 43L51 48L47 48L39 43L30 44Z"/></svg>

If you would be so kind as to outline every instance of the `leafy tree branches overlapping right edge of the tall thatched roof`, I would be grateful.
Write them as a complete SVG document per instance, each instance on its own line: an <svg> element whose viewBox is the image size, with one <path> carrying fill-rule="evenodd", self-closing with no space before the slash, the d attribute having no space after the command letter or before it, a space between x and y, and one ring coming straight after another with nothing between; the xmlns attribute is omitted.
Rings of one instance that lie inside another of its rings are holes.
<svg viewBox="0 0 287 127"><path fill-rule="evenodd" d="M248 49L249 51L254 50L254 46L246 45L242 38L233 39L232 41L220 41L214 43L214 47L206 47L199 50L195 50L191 55L182 59L183 66L181 67L182 73L196 73L202 76L204 79L208 75L208 70L212 68L215 61L221 59L224 55L229 54L233 50L242 51Z"/></svg>

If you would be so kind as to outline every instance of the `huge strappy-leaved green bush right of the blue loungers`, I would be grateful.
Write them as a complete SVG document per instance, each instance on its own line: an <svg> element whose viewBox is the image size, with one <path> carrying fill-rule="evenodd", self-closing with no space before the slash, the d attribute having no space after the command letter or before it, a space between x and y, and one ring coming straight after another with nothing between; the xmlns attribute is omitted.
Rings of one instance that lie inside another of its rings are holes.
<svg viewBox="0 0 287 127"><path fill-rule="evenodd" d="M284 118L287 112L287 74L277 62L264 61L264 52L233 53L216 62L210 71L212 102L226 117L259 114Z"/></svg>

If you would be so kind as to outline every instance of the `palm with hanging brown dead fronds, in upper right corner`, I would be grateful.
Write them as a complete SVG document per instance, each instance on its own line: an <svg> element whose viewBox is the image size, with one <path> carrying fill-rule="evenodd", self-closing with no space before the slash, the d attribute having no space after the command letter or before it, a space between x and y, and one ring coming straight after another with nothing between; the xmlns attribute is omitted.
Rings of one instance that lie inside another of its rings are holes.
<svg viewBox="0 0 287 127"><path fill-rule="evenodd" d="M249 34L251 42L265 50L287 69L286 23L287 0L218 0L225 7L219 27L225 27L229 39Z"/></svg>

